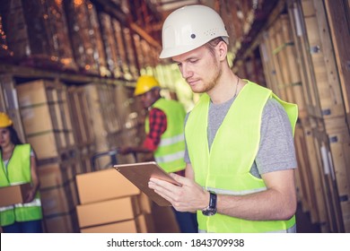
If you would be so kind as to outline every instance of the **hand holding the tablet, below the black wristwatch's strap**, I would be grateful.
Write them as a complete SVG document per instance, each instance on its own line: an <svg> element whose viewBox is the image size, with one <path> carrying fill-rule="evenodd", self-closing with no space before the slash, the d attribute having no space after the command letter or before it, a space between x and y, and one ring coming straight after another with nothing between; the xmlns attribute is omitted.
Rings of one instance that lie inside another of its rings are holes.
<svg viewBox="0 0 350 251"><path fill-rule="evenodd" d="M179 212L196 212L209 204L209 192L197 185L192 179L171 173L182 186L173 185L167 181L151 177L148 187L168 200Z"/></svg>

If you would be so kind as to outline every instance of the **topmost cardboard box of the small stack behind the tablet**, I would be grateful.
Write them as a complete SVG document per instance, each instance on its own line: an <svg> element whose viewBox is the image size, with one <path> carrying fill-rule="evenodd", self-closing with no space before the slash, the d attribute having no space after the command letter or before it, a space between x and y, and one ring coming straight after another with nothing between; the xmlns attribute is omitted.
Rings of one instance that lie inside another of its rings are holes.
<svg viewBox="0 0 350 251"><path fill-rule="evenodd" d="M140 194L140 190L116 169L77 175L76 186L81 204Z"/></svg>

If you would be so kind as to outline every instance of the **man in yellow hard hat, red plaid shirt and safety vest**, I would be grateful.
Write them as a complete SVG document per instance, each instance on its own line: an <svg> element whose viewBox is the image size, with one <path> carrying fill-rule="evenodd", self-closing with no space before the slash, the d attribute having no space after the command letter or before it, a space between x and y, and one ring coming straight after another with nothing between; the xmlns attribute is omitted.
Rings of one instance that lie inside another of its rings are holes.
<svg viewBox="0 0 350 251"><path fill-rule="evenodd" d="M186 111L178 101L162 98L160 91L161 86L153 76L143 75L138 78L134 94L148 110L144 122L146 137L142 146L127 146L120 148L119 152L153 153L154 160L166 172L184 176ZM181 232L197 232L195 213L174 212Z"/></svg>

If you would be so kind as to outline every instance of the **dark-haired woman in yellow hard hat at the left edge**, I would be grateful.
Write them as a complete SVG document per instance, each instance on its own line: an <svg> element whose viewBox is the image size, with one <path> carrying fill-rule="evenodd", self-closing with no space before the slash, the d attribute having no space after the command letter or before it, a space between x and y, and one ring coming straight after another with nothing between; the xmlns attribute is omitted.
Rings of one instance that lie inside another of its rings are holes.
<svg viewBox="0 0 350 251"><path fill-rule="evenodd" d="M13 121L0 112L0 186L31 183L24 203L0 207L0 224L5 233L42 232L39 177L36 158L29 143L21 143Z"/></svg>

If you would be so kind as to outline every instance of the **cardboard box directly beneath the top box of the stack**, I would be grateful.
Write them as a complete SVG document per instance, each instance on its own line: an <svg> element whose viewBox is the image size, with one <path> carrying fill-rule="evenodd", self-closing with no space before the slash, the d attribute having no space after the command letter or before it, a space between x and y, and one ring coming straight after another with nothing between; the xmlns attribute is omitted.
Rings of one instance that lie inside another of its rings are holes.
<svg viewBox="0 0 350 251"><path fill-rule="evenodd" d="M134 219L140 213L136 196L76 206L80 228Z"/></svg>

